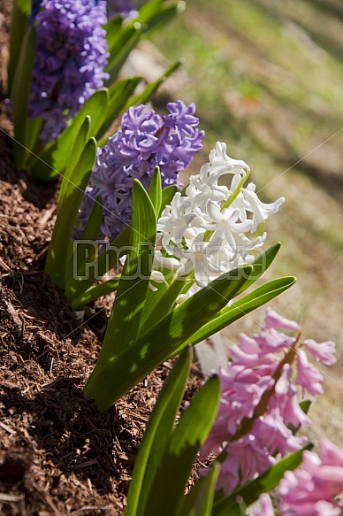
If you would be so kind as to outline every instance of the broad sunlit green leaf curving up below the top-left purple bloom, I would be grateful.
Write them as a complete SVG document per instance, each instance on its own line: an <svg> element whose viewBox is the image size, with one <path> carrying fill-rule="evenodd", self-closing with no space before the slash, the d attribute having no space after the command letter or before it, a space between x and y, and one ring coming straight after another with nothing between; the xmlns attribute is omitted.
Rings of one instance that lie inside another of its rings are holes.
<svg viewBox="0 0 343 516"><path fill-rule="evenodd" d="M57 140L50 142L28 166L28 173L34 180L48 182L65 170L72 153L72 147L87 116L90 117L89 137L95 136L103 125L109 99L108 89L98 89L88 98L80 112L73 118ZM45 163L45 165L44 165Z"/></svg>

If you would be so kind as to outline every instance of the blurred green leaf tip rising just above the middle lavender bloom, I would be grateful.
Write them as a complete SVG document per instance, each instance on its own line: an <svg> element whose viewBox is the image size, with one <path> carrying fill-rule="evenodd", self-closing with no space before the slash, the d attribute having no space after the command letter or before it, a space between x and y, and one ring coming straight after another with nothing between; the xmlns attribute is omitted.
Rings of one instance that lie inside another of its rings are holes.
<svg viewBox="0 0 343 516"><path fill-rule="evenodd" d="M110 101L107 108L106 116L104 118L103 126L99 129L97 138L101 138L105 132L111 127L113 121L125 111L125 106L133 95L134 90L137 88L141 81L141 77L133 77L131 79L123 79L118 81L110 88ZM103 139L103 142L99 142L99 146L102 147L107 142L107 138Z"/></svg>

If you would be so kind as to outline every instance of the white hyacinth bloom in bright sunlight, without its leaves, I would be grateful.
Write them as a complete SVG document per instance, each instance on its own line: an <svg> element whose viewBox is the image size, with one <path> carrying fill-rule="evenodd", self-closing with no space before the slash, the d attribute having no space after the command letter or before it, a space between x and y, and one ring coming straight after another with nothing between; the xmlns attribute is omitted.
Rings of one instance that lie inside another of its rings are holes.
<svg viewBox="0 0 343 516"><path fill-rule="evenodd" d="M254 260L249 252L260 249L267 234L254 239L246 234L254 234L284 202L281 197L264 204L252 182L243 188L249 167L244 161L229 158L225 150L225 143L217 142L210 162L190 177L186 195L177 193L157 223L164 250L179 258L178 274L194 270L200 287L206 286L212 275ZM231 181L224 176L231 176Z"/></svg>

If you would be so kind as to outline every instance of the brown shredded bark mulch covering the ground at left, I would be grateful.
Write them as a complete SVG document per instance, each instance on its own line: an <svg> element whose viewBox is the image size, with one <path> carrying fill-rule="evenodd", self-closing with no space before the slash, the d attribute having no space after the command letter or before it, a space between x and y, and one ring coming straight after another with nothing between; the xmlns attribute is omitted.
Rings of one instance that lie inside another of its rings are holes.
<svg viewBox="0 0 343 516"><path fill-rule="evenodd" d="M10 1L0 2L3 69ZM11 123L0 114L0 514L122 514L141 437L171 363L109 412L82 395L111 300L80 324L43 273L56 183L34 184L13 165ZM193 396L199 374L190 379Z"/></svg>

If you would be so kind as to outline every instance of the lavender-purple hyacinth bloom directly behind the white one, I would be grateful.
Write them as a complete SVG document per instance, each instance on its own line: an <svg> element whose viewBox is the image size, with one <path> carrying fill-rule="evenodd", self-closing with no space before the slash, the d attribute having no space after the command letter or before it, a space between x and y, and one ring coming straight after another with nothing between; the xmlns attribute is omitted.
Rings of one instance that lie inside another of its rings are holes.
<svg viewBox="0 0 343 516"><path fill-rule="evenodd" d="M121 233L131 220L133 180L149 189L156 166L163 188L179 185L179 172L202 148L204 133L196 128L194 104L186 106L179 100L167 104L167 109L169 114L160 117L141 104L123 115L117 133L98 151L75 235L80 235L97 196L103 200L103 235L112 240Z"/></svg>

